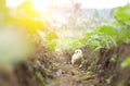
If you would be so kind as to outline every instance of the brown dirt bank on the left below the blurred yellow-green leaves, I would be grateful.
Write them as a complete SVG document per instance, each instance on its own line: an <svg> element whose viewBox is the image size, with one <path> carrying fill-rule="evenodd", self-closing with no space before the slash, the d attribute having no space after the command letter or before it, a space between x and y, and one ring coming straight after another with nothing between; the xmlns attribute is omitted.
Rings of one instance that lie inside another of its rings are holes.
<svg viewBox="0 0 130 86"><path fill-rule="evenodd" d="M52 78L48 67L52 64L50 58L53 53L48 51L41 44L36 46L31 59L10 65L11 70L0 71L0 86L43 86L47 77ZM8 72L9 71L9 72Z"/></svg>

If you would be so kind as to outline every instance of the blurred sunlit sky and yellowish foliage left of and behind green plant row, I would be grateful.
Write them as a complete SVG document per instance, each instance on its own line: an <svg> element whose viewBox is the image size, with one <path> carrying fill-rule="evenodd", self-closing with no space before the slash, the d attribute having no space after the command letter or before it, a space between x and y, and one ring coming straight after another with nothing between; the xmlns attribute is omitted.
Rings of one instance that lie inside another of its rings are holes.
<svg viewBox="0 0 130 86"><path fill-rule="evenodd" d="M114 10L129 2L129 0L1 0L0 57L8 60L11 60L9 56L28 57L34 51L34 44L39 41L51 51L72 48L72 44L79 46L81 42L75 45L74 41L83 38L98 26L115 21Z"/></svg>

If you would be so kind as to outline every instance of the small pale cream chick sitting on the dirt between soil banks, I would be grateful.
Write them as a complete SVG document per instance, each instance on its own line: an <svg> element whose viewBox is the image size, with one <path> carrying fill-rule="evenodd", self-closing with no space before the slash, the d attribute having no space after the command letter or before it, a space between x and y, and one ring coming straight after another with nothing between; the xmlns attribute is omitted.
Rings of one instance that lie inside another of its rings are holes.
<svg viewBox="0 0 130 86"><path fill-rule="evenodd" d="M72 57L72 64L80 64L82 58L83 56L81 49L76 49Z"/></svg>

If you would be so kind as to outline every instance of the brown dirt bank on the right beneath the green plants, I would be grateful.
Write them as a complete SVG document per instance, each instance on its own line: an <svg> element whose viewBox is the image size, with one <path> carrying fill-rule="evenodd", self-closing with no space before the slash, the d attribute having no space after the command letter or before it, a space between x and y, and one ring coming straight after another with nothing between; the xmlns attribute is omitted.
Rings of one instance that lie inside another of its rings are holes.
<svg viewBox="0 0 130 86"><path fill-rule="evenodd" d="M87 60L83 70L99 75L98 86L130 86L130 67L120 69L122 61L130 57L130 45L123 44L112 49L100 49L93 52L82 47Z"/></svg>

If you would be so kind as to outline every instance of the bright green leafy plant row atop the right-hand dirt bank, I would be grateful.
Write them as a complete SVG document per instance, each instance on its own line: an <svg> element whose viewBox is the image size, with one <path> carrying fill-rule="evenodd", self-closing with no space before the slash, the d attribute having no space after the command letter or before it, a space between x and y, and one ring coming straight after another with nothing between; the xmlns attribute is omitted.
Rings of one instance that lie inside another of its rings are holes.
<svg viewBox="0 0 130 86"><path fill-rule="evenodd" d="M84 38L70 44L70 49L76 49L83 45L89 45L93 50L100 48L112 48L119 44L130 42L130 4L114 10L113 22L101 25L87 33Z"/></svg>

